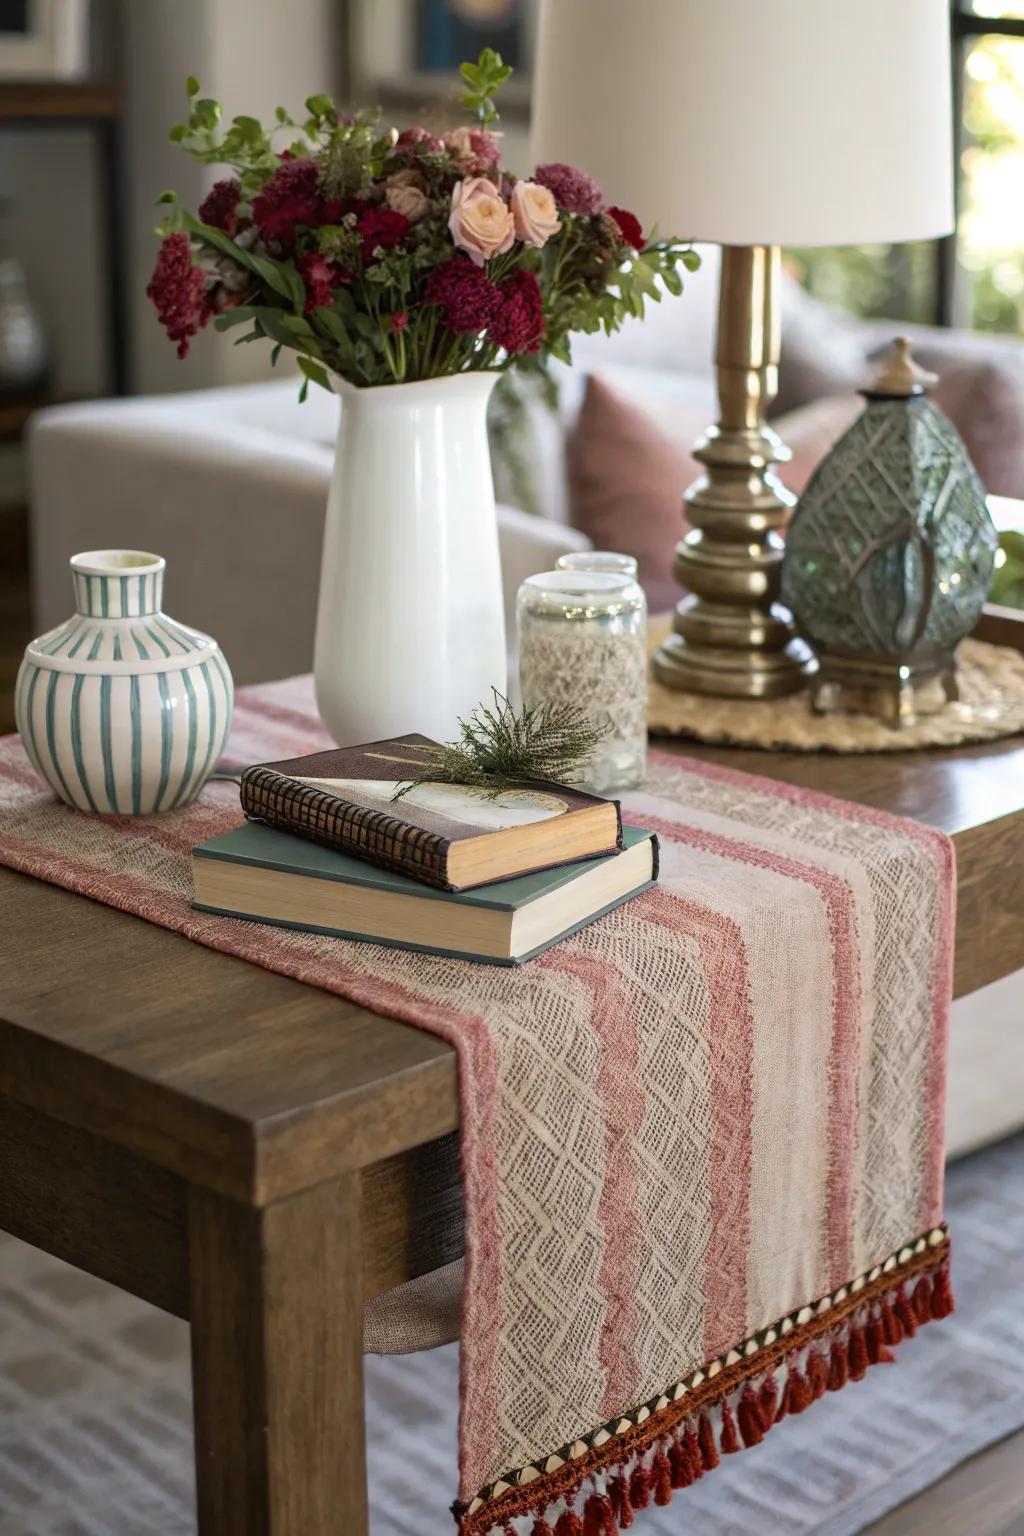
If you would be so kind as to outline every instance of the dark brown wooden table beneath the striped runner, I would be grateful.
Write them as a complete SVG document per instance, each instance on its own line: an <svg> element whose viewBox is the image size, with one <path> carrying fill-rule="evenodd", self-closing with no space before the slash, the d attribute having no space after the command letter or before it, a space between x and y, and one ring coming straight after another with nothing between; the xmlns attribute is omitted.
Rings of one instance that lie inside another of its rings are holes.
<svg viewBox="0 0 1024 1536"><path fill-rule="evenodd" d="M1024 742L699 750L949 831L956 994L1024 966ZM362 1536L362 1307L451 1258L450 1046L0 871L0 1227L192 1324L201 1536Z"/></svg>

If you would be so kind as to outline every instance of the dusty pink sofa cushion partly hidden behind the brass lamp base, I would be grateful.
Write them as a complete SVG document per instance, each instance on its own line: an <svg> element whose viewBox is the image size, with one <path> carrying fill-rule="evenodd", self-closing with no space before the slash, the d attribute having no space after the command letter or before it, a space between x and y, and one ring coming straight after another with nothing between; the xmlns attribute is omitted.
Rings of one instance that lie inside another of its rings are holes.
<svg viewBox="0 0 1024 1536"><path fill-rule="evenodd" d="M573 524L596 548L636 556L648 604L659 611L679 598L672 556L686 528L682 493L702 472L691 450L711 418L705 404L671 390L652 398L651 390L649 375L639 384L625 370L614 384L591 375L568 439L568 476ZM803 490L861 409L857 395L826 398L775 422L794 450L781 467L792 490Z"/></svg>

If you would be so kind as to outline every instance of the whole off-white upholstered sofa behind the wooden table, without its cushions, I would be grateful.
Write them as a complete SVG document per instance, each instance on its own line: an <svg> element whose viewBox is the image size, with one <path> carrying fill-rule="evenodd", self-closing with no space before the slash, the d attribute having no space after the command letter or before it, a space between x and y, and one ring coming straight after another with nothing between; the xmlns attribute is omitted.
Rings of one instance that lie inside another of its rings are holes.
<svg viewBox="0 0 1024 1536"><path fill-rule="evenodd" d="M588 544L567 524L563 464L586 369L660 398L662 419L674 401L705 404L711 419L712 318L709 267L643 327L577 346L557 419L533 422L545 516L499 508L507 607L524 576ZM68 614L75 550L152 548L167 558L169 611L218 637L238 682L307 671L336 412L319 390L299 407L293 379L41 412L31 433L38 628ZM1024 972L953 1005L950 1155L1024 1124L1022 1000Z"/></svg>

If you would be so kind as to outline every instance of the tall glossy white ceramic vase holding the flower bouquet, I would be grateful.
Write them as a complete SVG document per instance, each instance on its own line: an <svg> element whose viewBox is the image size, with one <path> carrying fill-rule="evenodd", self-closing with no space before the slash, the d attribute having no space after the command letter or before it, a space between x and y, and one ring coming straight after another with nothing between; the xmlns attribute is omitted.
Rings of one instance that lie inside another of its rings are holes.
<svg viewBox="0 0 1024 1536"><path fill-rule="evenodd" d="M341 745L439 740L505 690L487 399L496 373L341 395L327 502L316 705Z"/></svg>

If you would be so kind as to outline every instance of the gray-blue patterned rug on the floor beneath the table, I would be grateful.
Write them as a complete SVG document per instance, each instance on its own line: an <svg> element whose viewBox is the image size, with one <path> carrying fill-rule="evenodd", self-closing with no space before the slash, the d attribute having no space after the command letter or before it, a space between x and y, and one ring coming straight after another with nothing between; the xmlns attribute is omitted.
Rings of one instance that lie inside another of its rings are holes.
<svg viewBox="0 0 1024 1536"><path fill-rule="evenodd" d="M947 1210L956 1316L648 1510L649 1536L854 1536L1024 1425L1024 1137L958 1163ZM367 1398L373 1536L447 1536L454 1347L368 1359ZM187 1536L190 1455L186 1326L0 1236L0 1536Z"/></svg>

